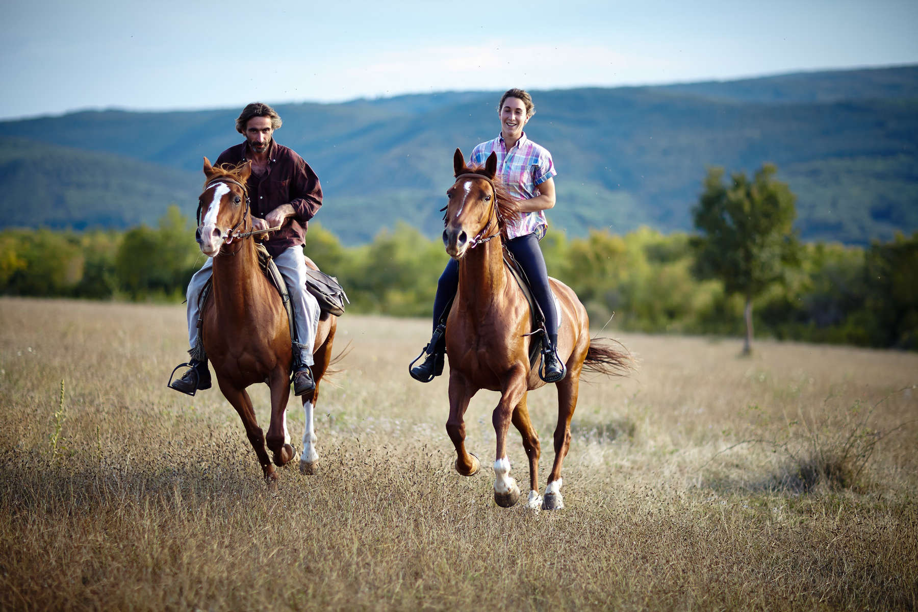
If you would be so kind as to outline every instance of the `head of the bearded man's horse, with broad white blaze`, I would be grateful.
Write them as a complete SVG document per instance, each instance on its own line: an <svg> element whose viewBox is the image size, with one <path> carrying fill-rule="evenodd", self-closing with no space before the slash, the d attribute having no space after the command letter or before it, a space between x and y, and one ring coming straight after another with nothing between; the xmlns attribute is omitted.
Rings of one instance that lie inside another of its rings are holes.
<svg viewBox="0 0 918 612"><path fill-rule="evenodd" d="M204 192L198 197L195 239L201 252L214 257L220 247L233 240L236 231L249 217L249 196L245 182L252 174L246 161L235 168L210 165L204 158Z"/></svg>

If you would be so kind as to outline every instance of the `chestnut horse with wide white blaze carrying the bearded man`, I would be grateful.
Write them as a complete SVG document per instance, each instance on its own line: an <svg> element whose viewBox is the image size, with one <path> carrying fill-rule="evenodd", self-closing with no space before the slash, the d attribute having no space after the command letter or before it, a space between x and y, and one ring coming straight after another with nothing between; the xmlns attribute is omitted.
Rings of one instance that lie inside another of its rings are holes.
<svg viewBox="0 0 918 612"><path fill-rule="evenodd" d="M272 451L275 465L285 465L296 456L286 427L286 405L290 395L290 328L285 307L274 285L258 263L252 228L252 215L246 181L252 173L249 162L230 168L214 168L204 158L207 181L199 198L200 225L196 231L201 252L214 258L213 288L202 305L201 329L204 349L217 373L220 391L236 408L246 436L269 483L277 480L274 465L265 450ZM318 270L307 258L307 265ZM319 455L313 409L319 397L319 381L331 358L338 317L323 313L313 346L312 366L316 388L303 395L306 430L300 471L313 473ZM246 387L266 383L271 389L271 425L263 434L255 419L252 399Z"/></svg>

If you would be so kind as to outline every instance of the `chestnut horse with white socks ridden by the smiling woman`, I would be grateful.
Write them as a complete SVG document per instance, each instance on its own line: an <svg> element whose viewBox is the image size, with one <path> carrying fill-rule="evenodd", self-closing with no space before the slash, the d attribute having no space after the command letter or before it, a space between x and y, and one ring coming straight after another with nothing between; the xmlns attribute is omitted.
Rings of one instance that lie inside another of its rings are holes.
<svg viewBox="0 0 918 612"><path fill-rule="evenodd" d="M577 406L582 370L623 374L629 356L589 338L587 311L567 285L550 279L557 300L558 356L567 374L555 383L558 422L554 429L554 465L544 496L539 495L539 436L532 427L526 394L543 384L538 363L530 365L532 336L530 306L520 286L504 264L503 240L508 219L519 215L516 202L495 180L497 155L491 153L482 168L469 168L461 150L453 156L455 184L446 192L443 245L459 261L459 289L446 322L446 354L450 361L450 416L446 431L456 449L456 471L471 476L480 463L465 450L465 410L479 389L500 392L492 420L497 433L494 499L509 507L520 498L520 487L510 475L507 431L510 423L520 430L529 459L530 493L527 506L537 509L564 507L561 464L570 446L571 417Z"/></svg>

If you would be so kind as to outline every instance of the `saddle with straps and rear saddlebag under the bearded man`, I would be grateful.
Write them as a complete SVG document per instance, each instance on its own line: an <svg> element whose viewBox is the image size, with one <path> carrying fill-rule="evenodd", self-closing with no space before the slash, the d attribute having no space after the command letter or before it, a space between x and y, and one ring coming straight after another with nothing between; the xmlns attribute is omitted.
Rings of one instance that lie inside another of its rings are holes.
<svg viewBox="0 0 918 612"><path fill-rule="evenodd" d="M274 285L274 289L277 290L277 293L281 296L281 301L284 303L287 323L290 327L290 341L292 342L297 338L296 321L293 317L293 305L290 303L290 294L287 292L284 276L277 269L274 258L268 254L268 250L264 248L263 244L256 243L255 249L258 251L259 267L268 280L271 281L271 284ZM201 305L201 315L197 319L198 328L204 325L201 317L203 317L204 305L207 303L207 297L210 295L212 286L213 277L208 278L207 283L201 288L200 297L198 298L198 304ZM319 302L319 318L325 318L329 315L341 317L344 314L344 304L351 303L347 294L344 293L344 288L338 283L338 279L318 270L306 269L306 288ZM204 346L200 340L198 340L198 344L201 346L195 347L195 350L191 351L191 356L193 359L203 360Z"/></svg>

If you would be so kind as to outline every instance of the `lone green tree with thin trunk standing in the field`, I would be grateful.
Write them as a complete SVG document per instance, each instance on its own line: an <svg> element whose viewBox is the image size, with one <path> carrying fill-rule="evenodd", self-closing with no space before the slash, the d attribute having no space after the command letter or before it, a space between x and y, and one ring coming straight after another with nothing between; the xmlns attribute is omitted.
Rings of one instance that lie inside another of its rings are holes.
<svg viewBox="0 0 918 612"><path fill-rule="evenodd" d="M787 184L766 163L750 182L733 172L723 184L723 169L709 168L704 191L692 209L700 236L692 239L695 272L718 278L728 294L745 298L744 354L752 351L752 300L768 285L784 280L789 267L800 265L798 241L791 225L797 211Z"/></svg>

